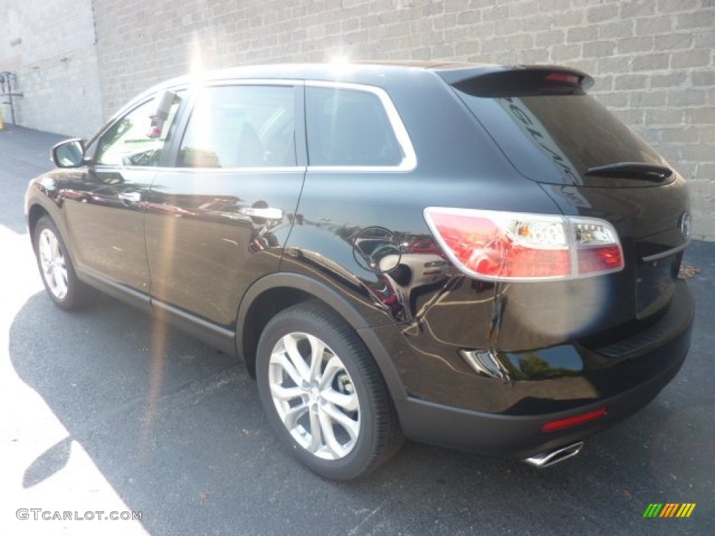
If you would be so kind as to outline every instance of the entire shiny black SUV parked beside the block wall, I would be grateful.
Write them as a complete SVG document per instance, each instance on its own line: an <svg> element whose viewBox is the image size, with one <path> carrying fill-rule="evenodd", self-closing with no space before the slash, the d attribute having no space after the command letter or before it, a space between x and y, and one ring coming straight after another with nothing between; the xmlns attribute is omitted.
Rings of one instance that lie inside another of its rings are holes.
<svg viewBox="0 0 715 536"><path fill-rule="evenodd" d="M245 359L346 480L403 437L546 466L688 352L684 180L557 66L255 66L174 79L54 147L49 296L96 289Z"/></svg>

